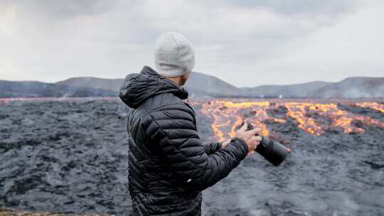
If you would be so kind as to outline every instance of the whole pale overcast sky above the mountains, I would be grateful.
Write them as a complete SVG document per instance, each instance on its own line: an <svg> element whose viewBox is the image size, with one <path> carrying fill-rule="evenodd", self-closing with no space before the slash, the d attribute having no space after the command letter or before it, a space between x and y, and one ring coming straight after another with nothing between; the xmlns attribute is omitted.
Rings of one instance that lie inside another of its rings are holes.
<svg viewBox="0 0 384 216"><path fill-rule="evenodd" d="M384 77L384 1L0 0L0 80L123 78L176 31L238 87Z"/></svg>

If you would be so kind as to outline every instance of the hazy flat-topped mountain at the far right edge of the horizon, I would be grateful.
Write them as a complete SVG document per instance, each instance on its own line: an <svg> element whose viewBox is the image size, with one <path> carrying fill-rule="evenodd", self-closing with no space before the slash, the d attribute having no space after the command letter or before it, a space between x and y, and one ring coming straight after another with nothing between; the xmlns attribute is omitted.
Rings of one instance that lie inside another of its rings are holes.
<svg viewBox="0 0 384 216"><path fill-rule="evenodd" d="M309 94L319 98L384 97L384 77L349 77Z"/></svg>

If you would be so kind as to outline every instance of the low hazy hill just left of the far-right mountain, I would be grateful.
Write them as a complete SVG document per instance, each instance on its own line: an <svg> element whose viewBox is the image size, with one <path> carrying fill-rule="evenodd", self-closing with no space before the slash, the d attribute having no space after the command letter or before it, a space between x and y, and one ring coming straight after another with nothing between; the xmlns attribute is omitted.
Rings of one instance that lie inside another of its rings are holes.
<svg viewBox="0 0 384 216"><path fill-rule="evenodd" d="M311 97L311 92L319 90L321 87L331 84L331 82L306 82L295 85L260 85L252 88L242 88L246 95L260 97Z"/></svg>

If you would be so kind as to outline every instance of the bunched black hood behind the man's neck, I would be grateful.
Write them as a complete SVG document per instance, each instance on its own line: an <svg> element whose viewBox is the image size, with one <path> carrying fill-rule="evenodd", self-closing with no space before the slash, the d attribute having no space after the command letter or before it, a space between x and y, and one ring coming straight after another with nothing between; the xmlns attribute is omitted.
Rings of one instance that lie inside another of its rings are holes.
<svg viewBox="0 0 384 216"><path fill-rule="evenodd" d="M127 75L120 87L119 97L129 107L136 109L146 99L163 93L172 93L186 99L188 92L172 80L161 77L154 69L144 66L140 73Z"/></svg>

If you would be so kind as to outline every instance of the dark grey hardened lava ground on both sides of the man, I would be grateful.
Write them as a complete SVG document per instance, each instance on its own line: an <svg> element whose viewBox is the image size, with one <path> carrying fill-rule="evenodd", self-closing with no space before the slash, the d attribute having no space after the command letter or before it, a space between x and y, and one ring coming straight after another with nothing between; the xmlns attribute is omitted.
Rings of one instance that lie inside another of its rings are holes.
<svg viewBox="0 0 384 216"><path fill-rule="evenodd" d="M129 215L125 124L117 100L0 104L0 206ZM198 112L198 124L208 140L210 119ZM246 158L204 192L204 214L384 215L384 129L316 137L295 124L268 123L294 149L282 166Z"/></svg>

